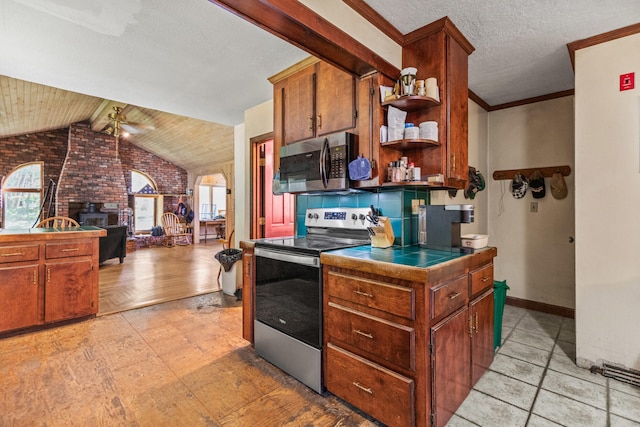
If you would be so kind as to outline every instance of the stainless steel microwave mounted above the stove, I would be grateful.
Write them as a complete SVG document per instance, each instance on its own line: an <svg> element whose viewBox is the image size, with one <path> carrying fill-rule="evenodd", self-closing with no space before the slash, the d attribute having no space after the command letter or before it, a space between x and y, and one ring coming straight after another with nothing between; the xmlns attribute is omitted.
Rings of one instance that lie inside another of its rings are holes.
<svg viewBox="0 0 640 427"><path fill-rule="evenodd" d="M355 138L351 133L342 132L280 148L280 191L348 190Z"/></svg>

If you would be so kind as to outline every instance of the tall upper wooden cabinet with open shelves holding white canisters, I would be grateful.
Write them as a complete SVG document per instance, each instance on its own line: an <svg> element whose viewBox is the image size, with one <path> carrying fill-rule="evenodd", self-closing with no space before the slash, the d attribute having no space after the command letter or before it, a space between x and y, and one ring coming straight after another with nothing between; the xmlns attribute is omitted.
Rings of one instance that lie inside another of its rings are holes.
<svg viewBox="0 0 640 427"><path fill-rule="evenodd" d="M468 56L474 48L448 18L443 18L408 35L403 45L403 67L416 67L418 80L437 79L440 100L408 96L381 102L380 86L393 86L387 77L373 75L359 82L360 117L369 111L369 120L360 120L360 153L370 153L372 179L354 183L355 187L422 185L432 188L459 188L468 179ZM398 76L392 76L398 78ZM367 93L371 95L367 103ZM371 105L370 109L366 109ZM406 123L419 126L425 121L438 123L438 141L397 140L380 142L380 126L387 124L389 105L407 112ZM366 155L366 154L365 154ZM406 156L419 167L422 180L392 183L387 178L390 161ZM440 182L428 177L441 176Z"/></svg>

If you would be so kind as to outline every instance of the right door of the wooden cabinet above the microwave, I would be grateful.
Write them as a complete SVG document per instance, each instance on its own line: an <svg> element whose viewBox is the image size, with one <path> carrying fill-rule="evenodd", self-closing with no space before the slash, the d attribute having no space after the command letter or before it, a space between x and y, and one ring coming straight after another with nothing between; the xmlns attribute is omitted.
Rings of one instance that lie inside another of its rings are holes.
<svg viewBox="0 0 640 427"><path fill-rule="evenodd" d="M316 135L356 126L355 77L326 62L317 64Z"/></svg>

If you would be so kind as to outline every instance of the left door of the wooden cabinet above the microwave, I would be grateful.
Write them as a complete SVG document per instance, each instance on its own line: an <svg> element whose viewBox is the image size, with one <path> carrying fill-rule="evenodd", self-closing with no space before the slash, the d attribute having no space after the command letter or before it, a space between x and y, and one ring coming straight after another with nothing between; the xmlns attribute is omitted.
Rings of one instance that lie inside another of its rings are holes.
<svg viewBox="0 0 640 427"><path fill-rule="evenodd" d="M283 144L315 136L315 67L290 76L283 85Z"/></svg>

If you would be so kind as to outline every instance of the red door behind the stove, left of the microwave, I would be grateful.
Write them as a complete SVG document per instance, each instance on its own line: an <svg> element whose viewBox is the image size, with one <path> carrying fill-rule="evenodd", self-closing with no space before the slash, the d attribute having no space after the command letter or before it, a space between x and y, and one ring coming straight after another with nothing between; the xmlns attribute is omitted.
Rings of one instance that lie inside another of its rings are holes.
<svg viewBox="0 0 640 427"><path fill-rule="evenodd" d="M293 236L295 196L273 194L273 139L264 144L264 237Z"/></svg>

